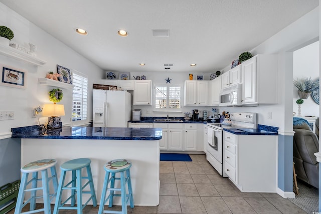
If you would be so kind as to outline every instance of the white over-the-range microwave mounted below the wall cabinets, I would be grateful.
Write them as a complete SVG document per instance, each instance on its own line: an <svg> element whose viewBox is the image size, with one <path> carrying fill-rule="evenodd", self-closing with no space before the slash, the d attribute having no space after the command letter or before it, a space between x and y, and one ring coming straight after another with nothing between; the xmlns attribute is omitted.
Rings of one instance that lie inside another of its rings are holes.
<svg viewBox="0 0 321 214"><path fill-rule="evenodd" d="M220 91L220 106L239 106L242 105L242 84L224 88Z"/></svg>

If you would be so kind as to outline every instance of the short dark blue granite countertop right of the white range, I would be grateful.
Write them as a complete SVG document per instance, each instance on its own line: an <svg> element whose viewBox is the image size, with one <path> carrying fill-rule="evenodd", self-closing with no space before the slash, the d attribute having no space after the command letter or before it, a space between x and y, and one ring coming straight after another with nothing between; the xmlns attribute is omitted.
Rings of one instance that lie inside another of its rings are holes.
<svg viewBox="0 0 321 214"><path fill-rule="evenodd" d="M277 127L265 126L258 124L257 128L231 128L223 129L224 131L230 132L232 134L241 135L278 135Z"/></svg>

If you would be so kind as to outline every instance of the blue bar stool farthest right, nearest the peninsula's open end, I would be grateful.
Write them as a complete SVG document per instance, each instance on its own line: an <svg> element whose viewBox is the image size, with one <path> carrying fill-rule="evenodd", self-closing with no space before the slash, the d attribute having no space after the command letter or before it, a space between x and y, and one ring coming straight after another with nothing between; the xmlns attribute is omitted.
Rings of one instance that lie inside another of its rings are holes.
<svg viewBox="0 0 321 214"><path fill-rule="evenodd" d="M104 169L106 171L106 175L105 175L105 180L104 180L104 184L101 192L98 214L102 214L102 213L126 214L128 199L130 201L130 207L134 208L134 199L132 195L130 171L129 171L130 167L131 167L131 162L125 159L111 160L105 164ZM115 177L116 172L120 173L120 177ZM126 177L125 177L125 172L126 172ZM115 180L120 180L120 188L115 188ZM110 183L110 187L108 187L109 183ZM126 183L128 185L128 194L126 194ZM110 192L109 192L109 195L106 197L107 191L110 191ZM120 191L120 194L115 194L114 191ZM109 199L109 207L112 207L114 196L121 197L121 211L104 210L104 205L108 199Z"/></svg>

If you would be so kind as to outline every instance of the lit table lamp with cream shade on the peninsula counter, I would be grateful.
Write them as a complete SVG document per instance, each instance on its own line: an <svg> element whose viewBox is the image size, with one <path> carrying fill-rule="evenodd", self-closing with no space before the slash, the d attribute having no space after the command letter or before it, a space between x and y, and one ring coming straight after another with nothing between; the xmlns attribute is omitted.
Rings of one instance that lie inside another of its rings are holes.
<svg viewBox="0 0 321 214"><path fill-rule="evenodd" d="M64 105L56 104L56 103L45 104L44 109L42 111L42 115L49 116L47 128L49 129L61 128L60 116L65 116Z"/></svg>

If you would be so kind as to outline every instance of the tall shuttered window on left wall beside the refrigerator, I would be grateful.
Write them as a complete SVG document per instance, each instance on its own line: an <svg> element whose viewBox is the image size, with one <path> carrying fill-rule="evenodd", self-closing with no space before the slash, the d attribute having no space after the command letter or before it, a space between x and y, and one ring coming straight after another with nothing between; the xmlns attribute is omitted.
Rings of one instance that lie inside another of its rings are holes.
<svg viewBox="0 0 321 214"><path fill-rule="evenodd" d="M87 120L88 79L73 72L72 121Z"/></svg>

